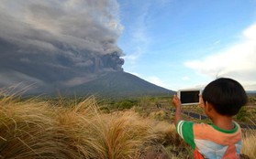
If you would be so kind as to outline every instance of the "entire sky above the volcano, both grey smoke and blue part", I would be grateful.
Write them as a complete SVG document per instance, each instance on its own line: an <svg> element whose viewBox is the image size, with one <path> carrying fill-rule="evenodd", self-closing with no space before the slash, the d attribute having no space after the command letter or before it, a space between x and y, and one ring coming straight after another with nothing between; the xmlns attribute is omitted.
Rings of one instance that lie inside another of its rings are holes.
<svg viewBox="0 0 256 159"><path fill-rule="evenodd" d="M0 1L0 87L111 71L169 90L220 77L256 90L256 0Z"/></svg>

